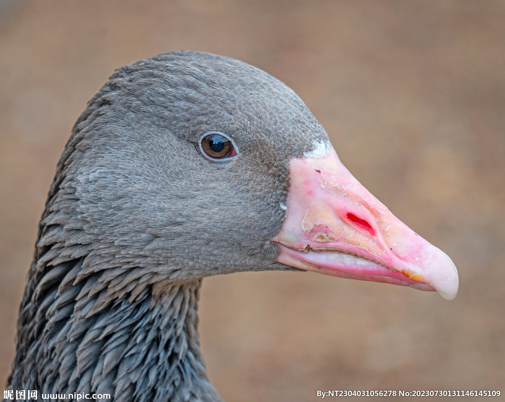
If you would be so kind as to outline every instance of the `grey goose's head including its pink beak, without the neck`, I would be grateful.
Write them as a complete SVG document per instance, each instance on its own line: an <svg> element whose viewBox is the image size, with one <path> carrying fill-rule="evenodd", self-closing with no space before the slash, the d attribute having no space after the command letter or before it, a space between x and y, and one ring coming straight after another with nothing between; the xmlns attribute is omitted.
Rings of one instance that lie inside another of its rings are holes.
<svg viewBox="0 0 505 402"><path fill-rule="evenodd" d="M162 286L301 269L456 295L451 260L369 193L295 92L260 69L195 52L134 63L76 130L66 181L92 245L81 277L136 267Z"/></svg>

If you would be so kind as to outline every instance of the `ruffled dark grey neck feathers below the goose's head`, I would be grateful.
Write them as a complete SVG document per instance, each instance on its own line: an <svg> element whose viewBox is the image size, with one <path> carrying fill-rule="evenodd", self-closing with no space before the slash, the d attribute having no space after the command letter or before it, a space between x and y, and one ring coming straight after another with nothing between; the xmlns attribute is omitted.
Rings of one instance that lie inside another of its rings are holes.
<svg viewBox="0 0 505 402"><path fill-rule="evenodd" d="M109 393L125 402L221 400L199 350L201 280L110 298L107 287L96 291L101 275L73 284L80 265L48 267L35 287L30 282L40 275L30 277L12 389Z"/></svg>

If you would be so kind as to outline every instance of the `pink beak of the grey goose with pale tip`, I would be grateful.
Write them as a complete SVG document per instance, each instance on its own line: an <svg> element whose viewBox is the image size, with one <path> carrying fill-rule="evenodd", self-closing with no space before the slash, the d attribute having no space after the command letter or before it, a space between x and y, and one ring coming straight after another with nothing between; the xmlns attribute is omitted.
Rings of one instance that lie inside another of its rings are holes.
<svg viewBox="0 0 505 402"><path fill-rule="evenodd" d="M451 300L458 271L449 257L389 210L342 165L335 150L292 158L287 215L272 242L278 262L342 278L438 291Z"/></svg>

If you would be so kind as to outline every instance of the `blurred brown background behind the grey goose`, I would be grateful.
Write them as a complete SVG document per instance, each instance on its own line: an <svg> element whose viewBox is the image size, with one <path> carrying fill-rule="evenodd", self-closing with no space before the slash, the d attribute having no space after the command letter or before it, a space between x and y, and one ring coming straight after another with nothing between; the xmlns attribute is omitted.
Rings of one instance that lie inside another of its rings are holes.
<svg viewBox="0 0 505 402"><path fill-rule="evenodd" d="M115 68L180 49L292 87L347 168L460 273L450 302L313 273L205 280L201 343L223 398L504 393L505 3L492 0L0 0L0 382L72 124Z"/></svg>

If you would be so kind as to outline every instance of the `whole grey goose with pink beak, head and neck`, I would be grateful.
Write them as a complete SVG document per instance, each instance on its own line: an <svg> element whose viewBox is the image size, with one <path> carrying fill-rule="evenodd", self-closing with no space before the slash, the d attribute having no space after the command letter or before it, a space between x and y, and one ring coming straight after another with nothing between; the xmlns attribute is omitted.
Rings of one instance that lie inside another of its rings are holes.
<svg viewBox="0 0 505 402"><path fill-rule="evenodd" d="M349 173L281 81L200 52L119 68L58 162L8 387L221 401L199 348L201 281L264 270L458 290L449 257Z"/></svg>

